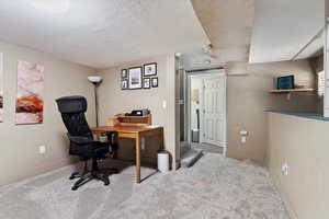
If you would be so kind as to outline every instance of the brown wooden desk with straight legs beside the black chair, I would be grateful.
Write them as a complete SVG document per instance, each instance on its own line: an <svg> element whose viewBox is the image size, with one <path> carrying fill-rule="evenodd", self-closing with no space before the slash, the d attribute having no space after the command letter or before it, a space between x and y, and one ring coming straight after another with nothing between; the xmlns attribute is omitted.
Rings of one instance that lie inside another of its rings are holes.
<svg viewBox="0 0 329 219"><path fill-rule="evenodd" d="M138 126L101 126L91 129L94 135L105 131L117 131L118 138L135 139L136 148L136 183L140 183L140 139L148 136L159 136L160 148L163 149L163 127Z"/></svg>

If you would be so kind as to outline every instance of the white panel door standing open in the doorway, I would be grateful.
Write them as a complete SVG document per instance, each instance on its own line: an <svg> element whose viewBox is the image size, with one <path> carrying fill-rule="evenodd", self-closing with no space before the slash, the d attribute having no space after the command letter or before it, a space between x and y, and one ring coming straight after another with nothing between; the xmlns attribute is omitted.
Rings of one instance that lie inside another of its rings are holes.
<svg viewBox="0 0 329 219"><path fill-rule="evenodd" d="M204 79L203 142L225 147L225 77Z"/></svg>

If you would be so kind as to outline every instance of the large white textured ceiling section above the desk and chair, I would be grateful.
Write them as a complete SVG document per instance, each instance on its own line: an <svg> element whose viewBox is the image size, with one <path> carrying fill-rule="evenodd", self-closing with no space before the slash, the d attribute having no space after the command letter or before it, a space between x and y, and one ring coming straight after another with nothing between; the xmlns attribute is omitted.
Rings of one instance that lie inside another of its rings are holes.
<svg viewBox="0 0 329 219"><path fill-rule="evenodd" d="M1 1L0 30L2 41L94 68L209 43L190 0Z"/></svg>

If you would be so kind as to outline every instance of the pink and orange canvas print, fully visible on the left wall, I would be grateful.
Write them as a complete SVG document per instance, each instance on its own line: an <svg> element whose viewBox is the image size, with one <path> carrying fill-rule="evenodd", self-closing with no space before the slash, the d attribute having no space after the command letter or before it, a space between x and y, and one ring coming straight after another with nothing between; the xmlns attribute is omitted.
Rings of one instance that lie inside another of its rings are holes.
<svg viewBox="0 0 329 219"><path fill-rule="evenodd" d="M16 124L42 124L44 110L44 67L19 61Z"/></svg>

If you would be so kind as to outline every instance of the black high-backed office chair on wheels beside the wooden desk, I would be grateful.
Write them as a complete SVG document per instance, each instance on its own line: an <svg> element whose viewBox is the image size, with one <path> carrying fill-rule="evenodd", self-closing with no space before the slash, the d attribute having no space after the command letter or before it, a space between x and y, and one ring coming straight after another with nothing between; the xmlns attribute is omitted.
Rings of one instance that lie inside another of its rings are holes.
<svg viewBox="0 0 329 219"><path fill-rule="evenodd" d="M78 189L91 180L99 180L104 185L109 185L109 174L99 169L98 161L105 159L106 153L112 154L117 150L116 131L102 134L102 136L107 136L107 142L95 141L84 117L87 100L83 96L65 96L56 100L56 102L68 130L69 154L79 155L80 160L84 162L83 171L75 172L69 177L70 180L79 178L73 184L72 191ZM88 160L90 159L92 160L92 169L88 170ZM107 171L117 173L116 169L107 169Z"/></svg>

